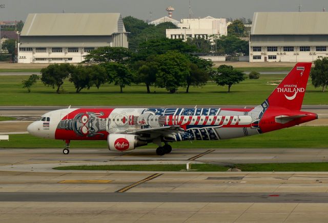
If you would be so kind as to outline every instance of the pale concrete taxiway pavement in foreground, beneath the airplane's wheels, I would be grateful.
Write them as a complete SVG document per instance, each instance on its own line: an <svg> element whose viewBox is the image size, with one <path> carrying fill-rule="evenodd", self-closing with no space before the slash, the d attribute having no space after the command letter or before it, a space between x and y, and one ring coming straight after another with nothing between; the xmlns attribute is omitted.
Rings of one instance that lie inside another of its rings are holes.
<svg viewBox="0 0 328 223"><path fill-rule="evenodd" d="M322 222L327 219L327 172L52 169L80 164L320 162L328 155L324 149L210 149L211 152L199 156L208 150L177 149L160 158L151 149L125 154L107 149L72 149L67 156L61 149L0 149L1 222ZM154 174L157 175L152 178ZM125 188L128 189L122 190Z"/></svg>

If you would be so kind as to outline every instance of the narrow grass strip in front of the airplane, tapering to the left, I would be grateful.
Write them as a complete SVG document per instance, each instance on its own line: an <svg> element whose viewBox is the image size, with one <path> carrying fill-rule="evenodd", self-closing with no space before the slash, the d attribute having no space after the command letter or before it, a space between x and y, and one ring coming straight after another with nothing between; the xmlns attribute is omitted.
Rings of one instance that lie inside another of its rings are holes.
<svg viewBox="0 0 328 223"><path fill-rule="evenodd" d="M260 164L235 164L233 167L241 171L328 171L328 163L260 163ZM230 166L213 164L192 164L192 171L221 172L227 171ZM185 164L171 165L96 165L96 166L61 166L56 170L125 170L125 171L185 171Z"/></svg>

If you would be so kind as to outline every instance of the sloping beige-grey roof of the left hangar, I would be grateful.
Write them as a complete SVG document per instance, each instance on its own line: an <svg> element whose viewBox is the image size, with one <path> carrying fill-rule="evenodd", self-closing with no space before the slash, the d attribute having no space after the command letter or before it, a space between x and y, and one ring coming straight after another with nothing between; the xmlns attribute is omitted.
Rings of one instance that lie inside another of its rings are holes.
<svg viewBox="0 0 328 223"><path fill-rule="evenodd" d="M126 32L120 13L33 13L21 36L107 36Z"/></svg>

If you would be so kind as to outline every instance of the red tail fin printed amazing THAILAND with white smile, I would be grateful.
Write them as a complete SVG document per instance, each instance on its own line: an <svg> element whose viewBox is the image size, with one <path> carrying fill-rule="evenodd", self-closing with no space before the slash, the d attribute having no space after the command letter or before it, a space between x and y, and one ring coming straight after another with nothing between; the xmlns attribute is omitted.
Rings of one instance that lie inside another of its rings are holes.
<svg viewBox="0 0 328 223"><path fill-rule="evenodd" d="M300 110L308 83L312 62L297 63L269 96L270 106Z"/></svg>

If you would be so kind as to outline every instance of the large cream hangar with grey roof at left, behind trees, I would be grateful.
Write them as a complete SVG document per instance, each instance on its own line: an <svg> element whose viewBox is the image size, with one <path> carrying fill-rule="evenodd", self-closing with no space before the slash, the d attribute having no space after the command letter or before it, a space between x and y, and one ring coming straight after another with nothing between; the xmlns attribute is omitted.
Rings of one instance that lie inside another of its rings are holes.
<svg viewBox="0 0 328 223"><path fill-rule="evenodd" d="M29 14L18 43L19 63L78 63L98 47L126 47L120 13Z"/></svg>

